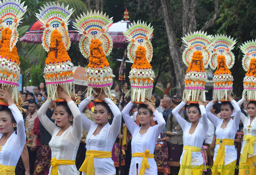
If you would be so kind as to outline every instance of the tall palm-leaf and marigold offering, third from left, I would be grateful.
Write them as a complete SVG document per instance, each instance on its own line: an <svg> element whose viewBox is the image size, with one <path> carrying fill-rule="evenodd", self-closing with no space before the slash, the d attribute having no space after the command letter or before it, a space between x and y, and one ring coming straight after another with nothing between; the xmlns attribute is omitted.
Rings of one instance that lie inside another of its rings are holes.
<svg viewBox="0 0 256 175"><path fill-rule="evenodd" d="M89 58L86 75L88 79L87 94L95 92L93 88L104 90L110 97L110 88L113 85L113 73L106 57L111 53L113 42L110 35L106 32L112 18L102 12L87 12L81 14L74 27L82 37L79 41L79 47L82 55Z"/></svg>

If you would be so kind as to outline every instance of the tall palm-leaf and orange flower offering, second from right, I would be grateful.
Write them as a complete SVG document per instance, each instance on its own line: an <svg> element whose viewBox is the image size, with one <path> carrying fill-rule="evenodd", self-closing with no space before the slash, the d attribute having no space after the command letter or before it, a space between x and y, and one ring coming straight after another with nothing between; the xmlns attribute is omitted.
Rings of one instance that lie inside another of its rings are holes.
<svg viewBox="0 0 256 175"><path fill-rule="evenodd" d="M219 101L227 101L228 94L233 90L234 79L229 69L235 62L234 54L231 52L235 44L236 40L226 35L215 35L211 44L213 54L210 67L213 70L217 68L213 77L213 98Z"/></svg>

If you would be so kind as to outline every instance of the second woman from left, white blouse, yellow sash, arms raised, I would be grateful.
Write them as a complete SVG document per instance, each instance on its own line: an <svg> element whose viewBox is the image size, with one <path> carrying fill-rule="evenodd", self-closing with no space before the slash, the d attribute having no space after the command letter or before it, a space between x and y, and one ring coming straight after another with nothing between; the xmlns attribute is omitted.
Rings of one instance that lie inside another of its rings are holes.
<svg viewBox="0 0 256 175"><path fill-rule="evenodd" d="M46 116L52 100L47 99L37 112L40 122L52 135L49 142L52 150L49 175L79 175L75 160L82 136L81 114L74 101L62 88L58 89L58 97L66 102L59 102L54 110L52 117L57 126Z"/></svg>

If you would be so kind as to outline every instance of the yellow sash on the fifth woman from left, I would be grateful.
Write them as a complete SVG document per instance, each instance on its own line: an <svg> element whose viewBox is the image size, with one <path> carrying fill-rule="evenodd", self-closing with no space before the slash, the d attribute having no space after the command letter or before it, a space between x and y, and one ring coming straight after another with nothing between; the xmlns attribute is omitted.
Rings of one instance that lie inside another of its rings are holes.
<svg viewBox="0 0 256 175"><path fill-rule="evenodd" d="M185 149L186 151L184 152L181 168L178 175L185 175L185 174L191 175L191 169L190 168L183 169L182 165L183 166L191 165L192 152L200 152L202 148L194 147L194 146L184 146L183 149Z"/></svg>

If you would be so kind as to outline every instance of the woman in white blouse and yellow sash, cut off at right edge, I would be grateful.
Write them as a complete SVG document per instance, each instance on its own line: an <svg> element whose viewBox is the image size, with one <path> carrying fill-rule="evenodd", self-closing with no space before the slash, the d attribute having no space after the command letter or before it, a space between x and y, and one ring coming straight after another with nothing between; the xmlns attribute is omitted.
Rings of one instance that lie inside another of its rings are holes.
<svg viewBox="0 0 256 175"><path fill-rule="evenodd" d="M242 98L237 102L240 106L246 99ZM249 117L241 112L241 121L244 124L244 141L242 143L239 165L253 165L256 162L256 102L250 101L247 105ZM239 174L256 174L256 166L247 169L239 169Z"/></svg>

